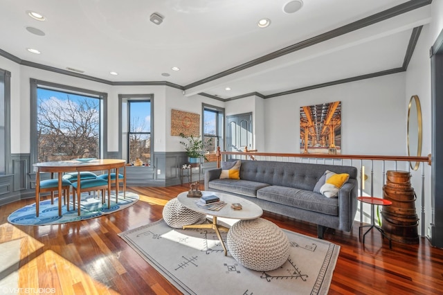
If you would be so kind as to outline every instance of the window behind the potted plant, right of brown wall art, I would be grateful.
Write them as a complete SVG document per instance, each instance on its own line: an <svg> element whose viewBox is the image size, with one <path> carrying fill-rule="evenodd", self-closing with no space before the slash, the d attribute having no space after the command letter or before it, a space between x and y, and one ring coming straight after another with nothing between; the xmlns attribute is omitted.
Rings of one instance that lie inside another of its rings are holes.
<svg viewBox="0 0 443 295"><path fill-rule="evenodd" d="M214 153L219 146L224 150L223 143L224 109L203 104L203 138L210 141L206 151ZM215 161L209 158L209 161Z"/></svg>

